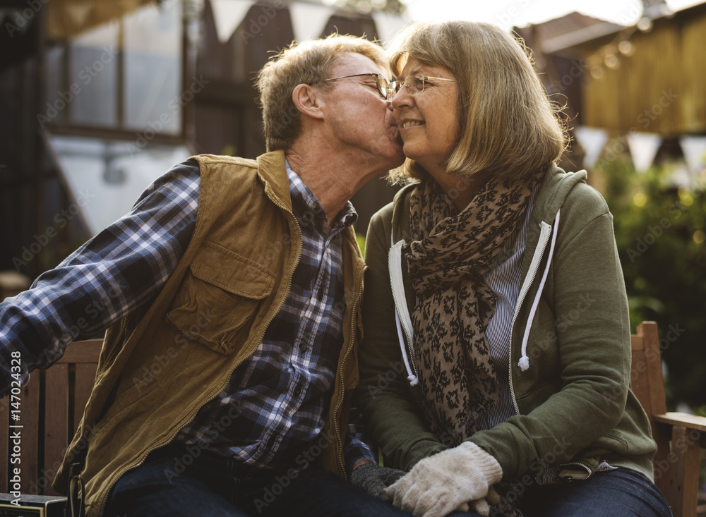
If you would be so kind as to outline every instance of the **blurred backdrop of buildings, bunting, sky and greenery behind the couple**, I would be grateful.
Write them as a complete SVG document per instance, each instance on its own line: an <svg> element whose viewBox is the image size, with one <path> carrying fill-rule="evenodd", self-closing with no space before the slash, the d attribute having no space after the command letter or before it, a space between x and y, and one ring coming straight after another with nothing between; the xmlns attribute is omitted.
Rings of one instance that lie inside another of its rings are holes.
<svg viewBox="0 0 706 517"><path fill-rule="evenodd" d="M634 326L656 320L670 409L706 415L706 3L659 0L11 0L0 3L0 299L191 154L265 151L253 77L292 40L386 42L467 18L532 51L609 202ZM354 197L364 236L395 193ZM361 239L362 243L362 239Z"/></svg>

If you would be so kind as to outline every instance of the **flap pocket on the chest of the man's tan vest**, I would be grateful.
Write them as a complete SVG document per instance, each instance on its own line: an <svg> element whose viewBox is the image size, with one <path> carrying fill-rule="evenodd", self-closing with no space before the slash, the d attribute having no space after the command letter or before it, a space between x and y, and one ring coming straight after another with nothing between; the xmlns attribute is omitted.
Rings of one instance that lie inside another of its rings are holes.
<svg viewBox="0 0 706 517"><path fill-rule="evenodd" d="M186 339L229 354L250 333L275 276L262 264L211 242L189 265L167 320Z"/></svg>

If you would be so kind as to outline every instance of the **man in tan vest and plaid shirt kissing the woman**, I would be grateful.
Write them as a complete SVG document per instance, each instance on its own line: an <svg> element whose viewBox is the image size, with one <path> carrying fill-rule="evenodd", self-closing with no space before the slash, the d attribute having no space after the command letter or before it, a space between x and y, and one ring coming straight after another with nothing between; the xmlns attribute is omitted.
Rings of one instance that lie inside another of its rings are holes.
<svg viewBox="0 0 706 517"><path fill-rule="evenodd" d="M386 77L364 39L282 51L258 76L267 154L175 166L0 304L4 390L107 329L54 484L83 485L86 516L407 515L343 479L397 476L348 426L364 270L348 200L403 160Z"/></svg>

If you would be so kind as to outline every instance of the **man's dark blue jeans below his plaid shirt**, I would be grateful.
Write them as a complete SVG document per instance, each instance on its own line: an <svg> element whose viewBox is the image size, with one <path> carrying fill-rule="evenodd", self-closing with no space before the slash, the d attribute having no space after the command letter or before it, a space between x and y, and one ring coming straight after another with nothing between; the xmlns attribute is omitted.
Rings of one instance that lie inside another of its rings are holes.
<svg viewBox="0 0 706 517"><path fill-rule="evenodd" d="M243 466L183 449L151 454L110 494L107 517L407 516L337 475L315 468L286 472ZM193 461L192 461L193 459Z"/></svg>

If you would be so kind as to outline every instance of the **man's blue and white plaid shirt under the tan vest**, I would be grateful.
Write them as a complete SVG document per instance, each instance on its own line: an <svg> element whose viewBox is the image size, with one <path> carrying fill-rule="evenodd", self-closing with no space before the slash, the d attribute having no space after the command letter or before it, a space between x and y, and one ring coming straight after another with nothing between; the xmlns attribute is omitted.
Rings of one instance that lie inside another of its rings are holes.
<svg viewBox="0 0 706 517"><path fill-rule="evenodd" d="M357 219L348 204L329 229L323 207L288 165L287 175L303 237L287 300L229 387L177 437L261 468L307 466L333 439L321 430L343 343L341 232ZM0 303L4 389L13 380L12 351L20 352L26 378L28 370L60 358L69 342L102 332L155 298L189 244L199 188L196 162L175 166L125 217L42 274L29 291ZM360 459L376 461L360 436L349 426L349 472Z"/></svg>

